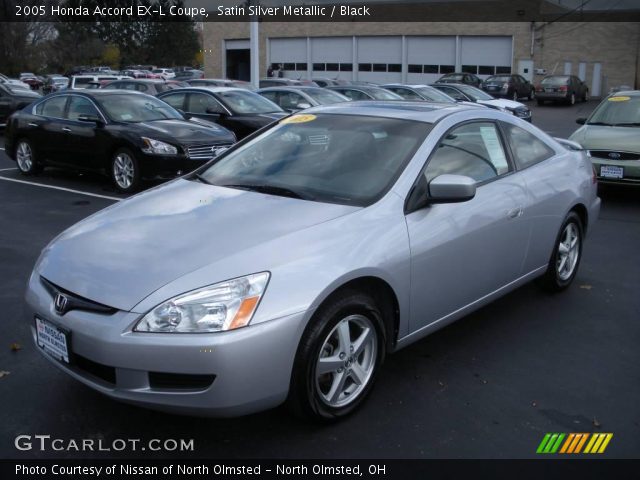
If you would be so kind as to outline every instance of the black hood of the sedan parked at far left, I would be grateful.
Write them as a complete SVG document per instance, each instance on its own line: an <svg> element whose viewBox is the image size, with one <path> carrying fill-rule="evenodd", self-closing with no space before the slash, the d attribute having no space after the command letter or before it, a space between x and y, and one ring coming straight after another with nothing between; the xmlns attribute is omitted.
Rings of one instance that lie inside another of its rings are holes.
<svg viewBox="0 0 640 480"><path fill-rule="evenodd" d="M159 134L169 138L171 143L194 145L209 142L235 142L234 134L226 128L201 120L156 120L133 125L146 131L148 135Z"/></svg>

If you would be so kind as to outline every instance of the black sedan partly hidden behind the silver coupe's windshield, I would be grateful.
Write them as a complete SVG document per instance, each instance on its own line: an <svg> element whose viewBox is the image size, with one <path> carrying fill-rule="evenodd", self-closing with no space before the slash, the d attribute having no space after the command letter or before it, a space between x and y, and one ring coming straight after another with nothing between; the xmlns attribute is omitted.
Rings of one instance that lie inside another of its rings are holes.
<svg viewBox="0 0 640 480"><path fill-rule="evenodd" d="M286 115L272 101L243 88L180 88L161 93L158 98L189 117L228 128L238 140Z"/></svg>

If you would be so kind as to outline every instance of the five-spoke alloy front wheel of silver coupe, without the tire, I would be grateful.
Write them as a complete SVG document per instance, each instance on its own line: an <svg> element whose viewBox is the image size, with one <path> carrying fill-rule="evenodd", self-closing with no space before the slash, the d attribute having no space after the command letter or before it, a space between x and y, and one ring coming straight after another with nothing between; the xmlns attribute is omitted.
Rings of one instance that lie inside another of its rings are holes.
<svg viewBox="0 0 640 480"><path fill-rule="evenodd" d="M322 402L338 408L358 398L372 378L377 348L370 319L350 315L340 320L324 340L316 362L316 389Z"/></svg>

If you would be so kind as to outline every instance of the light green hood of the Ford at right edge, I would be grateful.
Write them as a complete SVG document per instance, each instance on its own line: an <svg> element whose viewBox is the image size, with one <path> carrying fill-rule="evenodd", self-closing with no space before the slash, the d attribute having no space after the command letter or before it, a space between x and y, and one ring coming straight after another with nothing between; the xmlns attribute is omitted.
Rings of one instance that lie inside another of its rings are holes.
<svg viewBox="0 0 640 480"><path fill-rule="evenodd" d="M587 150L615 150L640 152L640 128L584 125L569 140L578 142Z"/></svg>

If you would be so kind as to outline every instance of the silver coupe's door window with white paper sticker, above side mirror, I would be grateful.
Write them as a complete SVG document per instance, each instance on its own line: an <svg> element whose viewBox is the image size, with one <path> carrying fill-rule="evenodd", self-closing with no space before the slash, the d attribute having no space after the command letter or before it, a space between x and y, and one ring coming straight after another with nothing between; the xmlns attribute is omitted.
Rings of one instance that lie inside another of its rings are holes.
<svg viewBox="0 0 640 480"><path fill-rule="evenodd" d="M425 176L427 182L443 174L484 182L510 170L496 125L476 122L454 128L440 140Z"/></svg>

